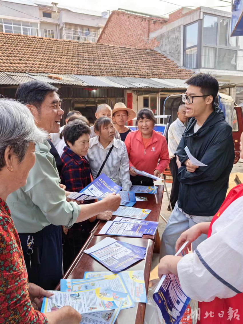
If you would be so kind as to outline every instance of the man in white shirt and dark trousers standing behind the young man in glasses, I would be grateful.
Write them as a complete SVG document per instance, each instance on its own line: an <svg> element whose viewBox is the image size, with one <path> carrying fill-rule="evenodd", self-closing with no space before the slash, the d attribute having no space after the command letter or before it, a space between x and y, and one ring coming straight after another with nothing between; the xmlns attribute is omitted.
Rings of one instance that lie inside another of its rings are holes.
<svg viewBox="0 0 243 324"><path fill-rule="evenodd" d="M178 166L176 164L176 157L174 153L180 143L181 136L186 129L186 126L184 125L184 123L187 121L185 104L179 106L177 116L178 118L175 121L173 121L168 131L168 149L169 149L169 157L170 157L169 168L173 178L172 188L170 193L170 203L172 209L174 209L179 195L180 182L177 179ZM167 209L168 211L172 212L172 210L170 210L170 206L168 206Z"/></svg>

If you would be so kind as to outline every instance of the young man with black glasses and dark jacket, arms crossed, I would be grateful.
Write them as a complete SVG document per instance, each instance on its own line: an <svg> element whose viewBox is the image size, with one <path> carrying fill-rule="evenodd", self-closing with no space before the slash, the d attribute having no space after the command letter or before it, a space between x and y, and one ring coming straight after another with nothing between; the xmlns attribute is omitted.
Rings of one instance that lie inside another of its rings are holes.
<svg viewBox="0 0 243 324"><path fill-rule="evenodd" d="M197 74L186 81L181 96L186 116L191 118L175 152L180 181L179 197L161 238L160 258L175 254L179 236L201 222L210 222L226 197L229 174L234 163L232 128L214 100L218 81L208 74ZM205 166L191 163L185 147ZM193 250L206 235L192 243Z"/></svg>

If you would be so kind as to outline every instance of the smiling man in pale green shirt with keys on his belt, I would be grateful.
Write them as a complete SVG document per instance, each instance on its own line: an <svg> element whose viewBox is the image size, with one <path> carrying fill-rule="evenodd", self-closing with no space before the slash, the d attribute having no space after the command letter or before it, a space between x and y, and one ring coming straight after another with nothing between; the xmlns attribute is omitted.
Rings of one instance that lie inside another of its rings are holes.
<svg viewBox="0 0 243 324"><path fill-rule="evenodd" d="M64 111L58 88L41 81L21 84L16 99L26 104L36 125L49 133L58 133ZM109 195L100 202L82 205L68 202L64 186L50 153L47 140L36 145L36 163L27 184L8 196L14 224L21 241L29 281L44 289L54 289L62 278L61 226L71 227L100 213L115 211L120 195Z"/></svg>

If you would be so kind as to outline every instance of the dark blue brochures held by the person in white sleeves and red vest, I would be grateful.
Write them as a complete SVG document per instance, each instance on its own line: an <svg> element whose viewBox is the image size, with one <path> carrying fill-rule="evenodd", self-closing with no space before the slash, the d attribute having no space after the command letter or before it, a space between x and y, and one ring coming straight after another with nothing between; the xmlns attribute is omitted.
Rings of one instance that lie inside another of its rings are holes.
<svg viewBox="0 0 243 324"><path fill-rule="evenodd" d="M176 255L185 248L185 242ZM174 274L163 275L158 283L153 298L166 323L179 324L190 302L190 298L181 289L179 278Z"/></svg>

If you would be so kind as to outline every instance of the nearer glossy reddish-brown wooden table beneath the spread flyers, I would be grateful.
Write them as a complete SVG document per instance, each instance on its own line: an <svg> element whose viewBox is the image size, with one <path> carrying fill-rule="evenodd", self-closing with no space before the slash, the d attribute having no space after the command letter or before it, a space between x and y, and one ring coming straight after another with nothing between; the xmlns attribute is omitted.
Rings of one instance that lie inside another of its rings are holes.
<svg viewBox="0 0 243 324"><path fill-rule="evenodd" d="M118 241L127 242L130 244L146 247L146 257L144 260L140 260L134 263L129 270L143 270L144 271L144 279L146 292L148 291L148 283L149 276L151 270L151 262L153 256L154 249L154 241L147 238L134 238L134 237L116 237L113 236L114 239ZM85 249L89 249L101 240L104 237L102 236L92 236L89 239L89 242L86 244ZM82 249L84 250L84 249ZM80 251L81 252L81 251ZM92 258L89 254L84 253L83 251L79 253L78 260L76 260L75 264L73 263L69 268L69 271L65 273L64 279L82 279L84 277L85 271L107 271L107 268L104 267L97 260ZM60 289L60 285L56 287L56 290ZM142 324L144 322L145 316L145 303L135 303L135 307L122 310L119 313L115 324Z"/></svg>

